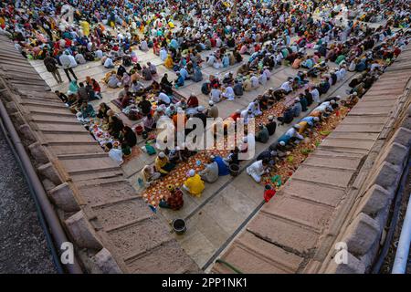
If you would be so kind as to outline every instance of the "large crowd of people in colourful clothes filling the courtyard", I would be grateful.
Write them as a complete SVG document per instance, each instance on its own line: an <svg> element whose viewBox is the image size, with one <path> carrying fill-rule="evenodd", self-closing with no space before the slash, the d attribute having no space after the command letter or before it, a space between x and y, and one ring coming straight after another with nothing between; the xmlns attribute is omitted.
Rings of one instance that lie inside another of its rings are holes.
<svg viewBox="0 0 411 292"><path fill-rule="evenodd" d="M204 122L216 119L223 100L233 101L246 92L266 89L276 68L295 69L294 76L278 88L256 95L247 108L227 118L230 122L242 118L248 124L251 118L268 116L258 123L255 136L248 134L227 157L210 155L202 172L192 169L187 173L181 187L195 196L204 191L204 182L214 183L230 173L230 165L239 165L238 153L256 141L267 143L277 123L291 124L297 119L248 166L248 174L259 183L269 167L283 158L284 151L298 144L339 103L352 106L361 99L408 44L405 28L410 26L410 3L402 0L21 0L2 1L0 8L0 34L9 36L23 56L43 60L58 83L64 82L59 69L64 70L69 85L66 92L56 91L58 98L97 140L105 137L102 146L119 163L131 155L139 134L153 140L160 120L170 118L176 124L178 119L184 123L192 118ZM382 25L370 26L368 22ZM138 50L153 51L177 78L170 79L167 73L159 76L155 65L142 64ZM111 69L100 82L119 89L113 103L129 120L141 120L135 129L108 104L100 102L98 109L91 106L90 101L102 98L100 83L90 77L80 81L76 68L93 61ZM236 72L229 70L236 64L241 64ZM227 73L205 79L202 69L206 67L225 68ZM347 72L361 73L351 80L348 97L321 101ZM145 86L146 81L150 85ZM194 94L188 99L178 94L187 82L201 82L201 91L209 99L208 109ZM295 96L292 104L285 103L291 95ZM286 104L281 115L267 115L281 102ZM317 106L300 119L312 104ZM157 153L150 144L145 151ZM143 185L149 187L195 153L184 145L159 151L154 165L142 169ZM181 190L171 185L169 192L160 206L181 208Z"/></svg>

